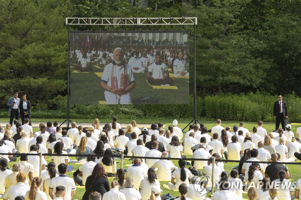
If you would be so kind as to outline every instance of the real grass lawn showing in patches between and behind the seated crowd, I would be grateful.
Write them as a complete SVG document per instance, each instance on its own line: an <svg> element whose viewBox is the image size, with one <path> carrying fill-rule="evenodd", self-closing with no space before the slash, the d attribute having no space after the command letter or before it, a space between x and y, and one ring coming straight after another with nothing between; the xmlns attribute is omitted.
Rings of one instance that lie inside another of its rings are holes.
<svg viewBox="0 0 301 200"><path fill-rule="evenodd" d="M7 118L0 118L0 121L7 121L8 119ZM33 119L33 121L36 121L36 122L47 122L47 121L58 121L58 122L63 122L64 119ZM85 120L73 120L73 121L76 121L76 123L78 125L80 125L80 123L93 123L93 119L85 119ZM109 123L111 122L110 119L108 120L103 120L101 121L101 123ZM131 122L131 119L129 120L118 120L119 123L130 123ZM156 121L149 121L149 120L136 120L137 123L146 123L146 124L151 124L151 123L159 123L159 122L162 122L165 124L165 127L169 126L172 124L172 120L156 120ZM190 121L189 120L179 120L178 121L178 126L180 128L184 128ZM204 123L205 126L208 128L208 129L211 129L213 126L215 126L215 122L214 121L200 121L201 123ZM222 122L222 126L223 127L226 127L226 126L231 126L233 127L234 125L238 125L239 122ZM249 130L252 130L253 126L257 126L257 123L254 123L254 122L246 122L245 123L245 128L249 129ZM300 127L301 124L292 124L292 131L295 133L296 132L296 129L298 127ZM274 129L275 129L275 123L264 123L264 128L267 129L268 132L272 132ZM33 129L33 132L36 132L38 131L39 129L38 128L34 128ZM184 134L183 134L184 135ZM191 156L187 156L187 158L191 158ZM75 157L70 157L70 159L75 159ZM48 157L48 159L46 160L47 162L51 162L50 158ZM119 162L120 160L116 160L117 162ZM172 161L176 166L178 166L178 162L173 160ZM10 162L9 163L9 166L11 167L12 165L14 164L14 162ZM128 168L126 165L127 164L131 164L131 161L129 161L128 159L125 159L124 162L123 162L123 168ZM77 170L79 168L80 165L77 165L77 164L72 164L70 163L70 165L74 165L74 170ZM238 163L225 163L225 166L224 166L224 169L225 171L227 171L228 173L230 173L231 171L231 167L233 166L236 166L238 165ZM293 181L296 181L298 179L301 178L301 174L300 174L300 165L287 165L288 168L289 168L289 172L290 172L290 175L291 175L291 179L293 179ZM120 162L117 163L117 168L120 168ZM187 167L188 168L188 167ZM72 176L72 172L68 172L67 175L69 176ZM112 179L109 179L109 182L111 182ZM167 193L170 193L172 196L176 197L178 195L180 195L179 192L176 192L176 191L172 191L172 190L168 190L168 189L165 189L162 187L163 184L167 184L168 182L164 182L164 181L161 181L160 184L161 184L161 189L163 190L163 193L164 194L167 194ZM85 189L84 188L77 188L76 189L76 195L74 197L74 199L82 199L82 195L84 194L85 192ZM209 195L209 194L208 194ZM208 196L207 195L207 196ZM243 198L247 198L247 195L246 194L243 194Z"/></svg>

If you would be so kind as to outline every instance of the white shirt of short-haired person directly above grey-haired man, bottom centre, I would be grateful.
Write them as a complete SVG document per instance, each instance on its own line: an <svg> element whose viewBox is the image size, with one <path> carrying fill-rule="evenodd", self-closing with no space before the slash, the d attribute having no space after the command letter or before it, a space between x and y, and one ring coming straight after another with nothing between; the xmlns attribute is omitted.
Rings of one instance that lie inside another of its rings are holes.
<svg viewBox="0 0 301 200"><path fill-rule="evenodd" d="M140 165L134 164L128 168L128 177L133 179L133 188L139 189L141 180L147 177L147 172Z"/></svg>

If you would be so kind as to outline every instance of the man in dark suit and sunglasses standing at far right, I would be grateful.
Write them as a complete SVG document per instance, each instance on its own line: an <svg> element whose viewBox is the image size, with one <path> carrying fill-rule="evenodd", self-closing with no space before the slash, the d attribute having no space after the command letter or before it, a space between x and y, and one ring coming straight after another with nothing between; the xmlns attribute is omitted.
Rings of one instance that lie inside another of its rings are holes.
<svg viewBox="0 0 301 200"><path fill-rule="evenodd" d="M278 95L278 101L274 102L273 109L274 118L276 118L276 130L279 128L281 121L282 129L285 130L284 119L287 119L287 105L285 101L282 101L282 95Z"/></svg>

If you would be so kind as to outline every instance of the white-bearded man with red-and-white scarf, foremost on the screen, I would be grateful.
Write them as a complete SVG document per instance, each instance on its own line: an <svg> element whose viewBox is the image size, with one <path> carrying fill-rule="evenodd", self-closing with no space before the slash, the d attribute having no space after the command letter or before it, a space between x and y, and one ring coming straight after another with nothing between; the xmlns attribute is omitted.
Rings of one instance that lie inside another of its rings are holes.
<svg viewBox="0 0 301 200"><path fill-rule="evenodd" d="M123 60L123 50L114 50L114 62L104 68L101 87L107 104L132 104L131 91L135 88L135 77L130 65Z"/></svg>

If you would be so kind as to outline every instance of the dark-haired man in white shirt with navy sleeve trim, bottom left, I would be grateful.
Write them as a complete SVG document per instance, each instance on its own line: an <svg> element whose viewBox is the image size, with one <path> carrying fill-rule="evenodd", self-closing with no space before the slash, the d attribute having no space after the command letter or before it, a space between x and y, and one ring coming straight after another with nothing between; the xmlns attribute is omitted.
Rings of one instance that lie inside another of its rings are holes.
<svg viewBox="0 0 301 200"><path fill-rule="evenodd" d="M64 200L71 200L75 195L76 187L74 180L66 176L68 166L64 163L61 163L57 168L60 175L51 179L49 184L49 195L52 199L54 199L56 197L56 187L63 185L66 189Z"/></svg>

